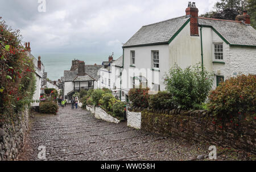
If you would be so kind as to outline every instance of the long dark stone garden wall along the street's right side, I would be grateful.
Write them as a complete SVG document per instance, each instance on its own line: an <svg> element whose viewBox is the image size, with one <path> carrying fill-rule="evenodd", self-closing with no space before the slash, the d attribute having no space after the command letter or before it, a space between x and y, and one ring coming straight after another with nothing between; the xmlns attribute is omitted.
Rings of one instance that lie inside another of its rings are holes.
<svg viewBox="0 0 256 172"><path fill-rule="evenodd" d="M256 121L239 124L214 122L208 111L175 109L169 114L142 111L142 130L190 142L243 149L256 153Z"/></svg>

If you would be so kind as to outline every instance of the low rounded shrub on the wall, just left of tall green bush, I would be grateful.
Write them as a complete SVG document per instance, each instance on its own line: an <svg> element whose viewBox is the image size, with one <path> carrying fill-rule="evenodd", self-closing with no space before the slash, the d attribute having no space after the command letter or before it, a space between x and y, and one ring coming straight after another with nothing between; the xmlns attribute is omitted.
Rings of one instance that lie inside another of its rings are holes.
<svg viewBox="0 0 256 172"><path fill-rule="evenodd" d="M150 100L148 100L149 108L151 109L175 109L176 106L172 100L172 94L163 91L158 92L158 94L151 95Z"/></svg>

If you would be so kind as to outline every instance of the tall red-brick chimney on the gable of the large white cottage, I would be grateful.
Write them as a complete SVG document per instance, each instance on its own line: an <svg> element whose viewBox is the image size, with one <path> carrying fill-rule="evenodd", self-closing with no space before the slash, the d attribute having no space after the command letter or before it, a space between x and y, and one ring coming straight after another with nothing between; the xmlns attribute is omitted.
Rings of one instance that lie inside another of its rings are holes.
<svg viewBox="0 0 256 172"><path fill-rule="evenodd" d="M198 29L198 9L196 7L196 3L188 2L188 7L186 9L186 15L190 18L190 35L191 36L199 36Z"/></svg>

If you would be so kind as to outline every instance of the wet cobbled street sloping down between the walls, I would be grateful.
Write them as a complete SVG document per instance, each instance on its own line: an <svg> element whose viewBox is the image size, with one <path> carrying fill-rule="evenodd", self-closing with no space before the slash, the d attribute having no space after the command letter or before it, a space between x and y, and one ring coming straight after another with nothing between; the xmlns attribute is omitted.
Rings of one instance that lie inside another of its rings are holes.
<svg viewBox="0 0 256 172"><path fill-rule="evenodd" d="M38 161L38 147L46 160L191 160L207 148L136 130L126 123L108 123L89 111L60 108L57 115L32 118L19 160ZM203 152L202 152L203 151Z"/></svg>

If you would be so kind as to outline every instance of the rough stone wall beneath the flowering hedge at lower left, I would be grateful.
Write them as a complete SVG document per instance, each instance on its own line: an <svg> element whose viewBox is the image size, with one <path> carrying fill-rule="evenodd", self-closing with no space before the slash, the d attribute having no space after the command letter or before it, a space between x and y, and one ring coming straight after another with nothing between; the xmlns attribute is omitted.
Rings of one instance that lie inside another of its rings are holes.
<svg viewBox="0 0 256 172"><path fill-rule="evenodd" d="M28 109L13 124L3 124L4 135L0 136L0 161L16 160L24 146L28 131ZM1 129L0 129L1 130Z"/></svg>

